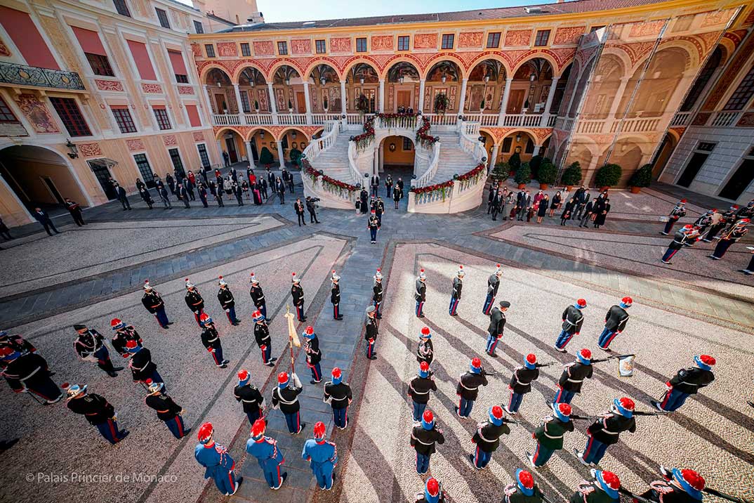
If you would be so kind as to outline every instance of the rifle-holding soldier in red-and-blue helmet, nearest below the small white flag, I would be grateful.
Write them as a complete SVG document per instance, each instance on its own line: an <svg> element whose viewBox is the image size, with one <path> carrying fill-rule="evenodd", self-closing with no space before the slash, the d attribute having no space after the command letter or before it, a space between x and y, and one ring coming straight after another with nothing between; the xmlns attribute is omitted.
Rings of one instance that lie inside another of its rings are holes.
<svg viewBox="0 0 754 503"><path fill-rule="evenodd" d="M577 452L582 465L599 465L605 450L618 439L623 431L636 431L636 419L633 419L633 400L627 397L616 398L610 410L587 428L587 446Z"/></svg>

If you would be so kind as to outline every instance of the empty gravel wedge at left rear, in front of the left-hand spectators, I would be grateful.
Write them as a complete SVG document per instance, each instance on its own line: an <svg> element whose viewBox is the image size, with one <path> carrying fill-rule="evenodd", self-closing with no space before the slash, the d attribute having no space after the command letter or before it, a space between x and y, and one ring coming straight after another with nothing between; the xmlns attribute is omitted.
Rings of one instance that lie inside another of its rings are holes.
<svg viewBox="0 0 754 503"><path fill-rule="evenodd" d="M66 225L60 235L35 235L3 252L3 259L14 267L0 269L0 285L4 285L0 296L141 264L279 225L270 216ZM73 256L75 260L70 259ZM54 259L44 259L40 267L41 257Z"/></svg>

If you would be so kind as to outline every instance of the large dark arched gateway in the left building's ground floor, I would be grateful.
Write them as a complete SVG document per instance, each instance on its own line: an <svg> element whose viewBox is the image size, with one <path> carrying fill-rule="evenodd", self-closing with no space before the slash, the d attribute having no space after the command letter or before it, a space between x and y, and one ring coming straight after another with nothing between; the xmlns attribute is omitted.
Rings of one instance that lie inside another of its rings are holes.
<svg viewBox="0 0 754 503"><path fill-rule="evenodd" d="M64 198L81 206L89 199L60 154L44 147L9 146L0 150L0 176L28 210L64 210Z"/></svg>

